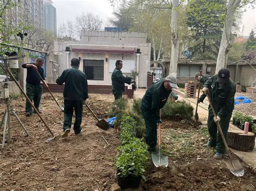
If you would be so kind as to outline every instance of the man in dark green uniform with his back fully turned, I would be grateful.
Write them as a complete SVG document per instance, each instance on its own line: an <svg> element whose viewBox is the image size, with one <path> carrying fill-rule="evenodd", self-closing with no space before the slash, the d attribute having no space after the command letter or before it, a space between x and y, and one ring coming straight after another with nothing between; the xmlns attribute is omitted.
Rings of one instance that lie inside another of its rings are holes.
<svg viewBox="0 0 256 191"><path fill-rule="evenodd" d="M80 61L77 58L71 60L71 68L65 69L56 83L65 83L63 91L64 97L64 124L62 137L68 137L70 132L73 109L75 109L76 119L74 123L75 135L81 135L83 104L86 104L88 96L87 77L79 70Z"/></svg>

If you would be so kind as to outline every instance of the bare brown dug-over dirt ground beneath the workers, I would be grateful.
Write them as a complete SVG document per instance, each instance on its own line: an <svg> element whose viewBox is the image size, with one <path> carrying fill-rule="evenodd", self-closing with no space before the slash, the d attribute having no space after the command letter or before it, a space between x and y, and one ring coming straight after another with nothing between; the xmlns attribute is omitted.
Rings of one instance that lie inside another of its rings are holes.
<svg viewBox="0 0 256 191"><path fill-rule="evenodd" d="M62 94L54 95L63 103ZM106 119L113 96L90 94L87 103L99 118ZM56 135L52 142L45 143L50 133L36 114L24 116L25 98L12 101L11 107L30 136L25 137L24 131L11 116L12 143L0 149L0 188L111 189L116 182L114 157L119 145L114 129L103 131L97 128L96 120L84 107L82 136L74 136L71 131L68 138L62 139L63 112L50 94L44 93L40 107L42 116ZM1 118L4 109L5 104L0 104ZM243 163L245 175L236 178L222 160L213 159L214 150L202 146L206 141L205 127L165 119L163 149L169 155L169 167L156 168L150 161L147 179L139 190L256 188L252 169Z"/></svg>

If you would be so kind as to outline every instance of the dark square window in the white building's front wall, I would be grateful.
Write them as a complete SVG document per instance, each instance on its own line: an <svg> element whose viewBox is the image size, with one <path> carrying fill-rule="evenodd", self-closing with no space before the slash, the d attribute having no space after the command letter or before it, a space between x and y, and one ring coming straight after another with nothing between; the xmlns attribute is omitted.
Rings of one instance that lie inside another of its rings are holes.
<svg viewBox="0 0 256 191"><path fill-rule="evenodd" d="M104 60L84 60L84 73L88 80L104 80Z"/></svg>

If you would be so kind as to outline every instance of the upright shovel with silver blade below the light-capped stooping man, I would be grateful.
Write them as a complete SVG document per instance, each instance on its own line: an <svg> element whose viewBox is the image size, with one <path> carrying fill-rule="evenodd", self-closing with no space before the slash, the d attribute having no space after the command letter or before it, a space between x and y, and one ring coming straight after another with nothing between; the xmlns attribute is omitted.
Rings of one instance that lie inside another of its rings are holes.
<svg viewBox="0 0 256 191"><path fill-rule="evenodd" d="M152 161L154 166L168 166L168 156L161 154L161 124L158 124L158 153L152 152Z"/></svg>

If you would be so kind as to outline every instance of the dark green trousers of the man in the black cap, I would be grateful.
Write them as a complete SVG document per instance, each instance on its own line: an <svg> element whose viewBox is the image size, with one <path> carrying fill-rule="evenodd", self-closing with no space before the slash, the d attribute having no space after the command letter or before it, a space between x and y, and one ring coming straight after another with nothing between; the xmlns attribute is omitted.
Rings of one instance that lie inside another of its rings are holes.
<svg viewBox="0 0 256 191"><path fill-rule="evenodd" d="M221 130L223 131L223 134L226 140L227 140L227 130L228 130L228 126L230 125L231 116L232 116L232 112L230 115L221 118L219 122L221 126ZM210 135L210 145L212 147L216 146L217 152L224 154L225 145L218 131L217 124L213 120L213 117L214 116L213 116L212 110L210 109L208 113L208 120L207 120L207 127Z"/></svg>

